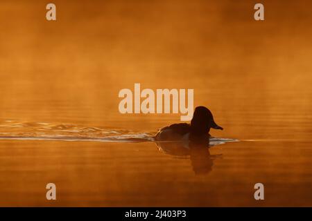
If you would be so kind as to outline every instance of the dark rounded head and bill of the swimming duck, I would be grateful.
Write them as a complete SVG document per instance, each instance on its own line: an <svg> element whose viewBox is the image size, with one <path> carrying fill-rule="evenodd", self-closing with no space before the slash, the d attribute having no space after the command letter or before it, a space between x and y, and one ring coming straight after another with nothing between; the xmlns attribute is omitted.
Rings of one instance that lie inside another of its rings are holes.
<svg viewBox="0 0 312 221"><path fill-rule="evenodd" d="M210 128L223 130L221 126L214 122L214 117L208 108L205 106L196 107L191 120L191 133L198 136L207 135Z"/></svg>

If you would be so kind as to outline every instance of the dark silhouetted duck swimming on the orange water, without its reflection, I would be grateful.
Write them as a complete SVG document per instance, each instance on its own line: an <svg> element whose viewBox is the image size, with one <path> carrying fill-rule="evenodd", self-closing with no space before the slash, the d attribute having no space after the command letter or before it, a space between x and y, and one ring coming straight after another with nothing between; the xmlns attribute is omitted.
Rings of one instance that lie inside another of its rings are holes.
<svg viewBox="0 0 312 221"><path fill-rule="evenodd" d="M162 141L198 141L209 140L210 128L223 130L214 121L211 111L205 106L197 106L191 119L191 124L171 124L160 128L155 135L156 142Z"/></svg>

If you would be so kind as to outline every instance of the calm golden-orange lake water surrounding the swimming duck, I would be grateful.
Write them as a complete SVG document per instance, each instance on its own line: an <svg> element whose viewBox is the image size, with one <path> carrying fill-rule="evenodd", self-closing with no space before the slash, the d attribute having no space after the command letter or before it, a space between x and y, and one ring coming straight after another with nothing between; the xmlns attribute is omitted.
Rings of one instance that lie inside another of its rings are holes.
<svg viewBox="0 0 312 221"><path fill-rule="evenodd" d="M55 1L48 22L44 3L1 1L0 137L180 122L120 114L119 90L140 83L193 88L224 128L211 135L239 142L177 157L153 141L0 138L0 206L312 206L311 2L268 2L262 23L253 1L181 2Z"/></svg>

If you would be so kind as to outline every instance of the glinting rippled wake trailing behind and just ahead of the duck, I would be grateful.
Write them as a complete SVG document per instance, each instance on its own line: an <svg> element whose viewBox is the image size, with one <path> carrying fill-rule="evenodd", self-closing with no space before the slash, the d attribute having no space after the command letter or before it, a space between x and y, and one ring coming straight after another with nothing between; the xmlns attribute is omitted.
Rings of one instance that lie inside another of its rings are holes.
<svg viewBox="0 0 312 221"><path fill-rule="evenodd" d="M155 133L119 128L98 128L74 124L45 122L0 122L0 140L60 140L93 142L154 142ZM211 145L234 142L227 138L212 137Z"/></svg>

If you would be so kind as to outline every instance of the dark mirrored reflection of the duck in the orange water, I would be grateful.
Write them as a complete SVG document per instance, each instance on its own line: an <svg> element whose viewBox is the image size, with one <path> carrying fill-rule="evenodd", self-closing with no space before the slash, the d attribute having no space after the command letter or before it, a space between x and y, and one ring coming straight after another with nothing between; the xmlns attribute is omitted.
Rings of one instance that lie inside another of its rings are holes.
<svg viewBox="0 0 312 221"><path fill-rule="evenodd" d="M156 142L159 151L180 158L189 158L196 175L212 171L214 160L222 155L211 155L209 137L205 140L190 140L189 142Z"/></svg>

